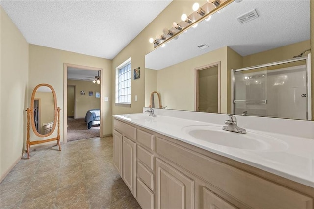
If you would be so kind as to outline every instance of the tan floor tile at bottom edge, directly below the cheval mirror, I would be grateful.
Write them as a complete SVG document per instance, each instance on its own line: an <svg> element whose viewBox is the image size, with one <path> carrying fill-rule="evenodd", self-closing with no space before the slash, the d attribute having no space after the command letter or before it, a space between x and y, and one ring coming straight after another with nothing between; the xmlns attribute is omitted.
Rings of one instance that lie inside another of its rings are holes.
<svg viewBox="0 0 314 209"><path fill-rule="evenodd" d="M24 199L20 209L53 209L56 191L44 194L34 199Z"/></svg>

